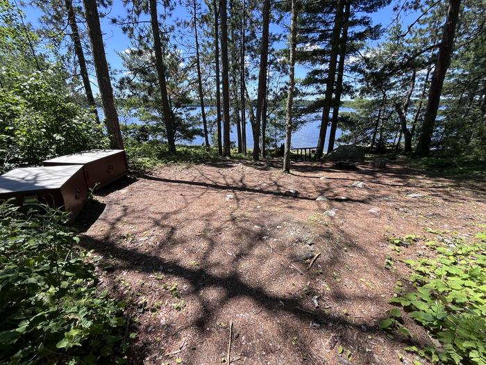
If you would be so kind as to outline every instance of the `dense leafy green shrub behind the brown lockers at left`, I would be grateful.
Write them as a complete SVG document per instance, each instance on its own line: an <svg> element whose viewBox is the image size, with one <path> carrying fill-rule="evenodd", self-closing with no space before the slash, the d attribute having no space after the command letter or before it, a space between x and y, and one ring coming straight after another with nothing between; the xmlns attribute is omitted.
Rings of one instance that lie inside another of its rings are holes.
<svg viewBox="0 0 486 365"><path fill-rule="evenodd" d="M1 76L9 82L0 88L0 172L107 145L101 124L58 85L55 72Z"/></svg>

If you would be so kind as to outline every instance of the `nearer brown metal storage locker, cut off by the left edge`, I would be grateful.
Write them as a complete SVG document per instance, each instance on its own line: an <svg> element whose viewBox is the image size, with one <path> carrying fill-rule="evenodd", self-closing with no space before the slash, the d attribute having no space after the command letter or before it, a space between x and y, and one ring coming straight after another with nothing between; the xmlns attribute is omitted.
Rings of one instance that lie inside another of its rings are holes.
<svg viewBox="0 0 486 365"><path fill-rule="evenodd" d="M72 213L83 209L88 189L83 165L16 168L0 176L0 200L22 207L43 203Z"/></svg>

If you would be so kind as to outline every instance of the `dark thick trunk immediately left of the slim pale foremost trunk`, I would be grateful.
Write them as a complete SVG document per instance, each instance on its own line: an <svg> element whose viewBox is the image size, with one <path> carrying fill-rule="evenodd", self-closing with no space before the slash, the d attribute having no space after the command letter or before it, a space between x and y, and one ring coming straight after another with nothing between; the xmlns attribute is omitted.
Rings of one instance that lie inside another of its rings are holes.
<svg viewBox="0 0 486 365"><path fill-rule="evenodd" d="M271 0L263 1L262 10L262 45L260 49L260 72L258 74L258 97L256 102L256 120L253 128L253 160L260 159L258 141L260 140L260 125L262 122L263 103L267 95L267 60L268 60L268 38L270 23Z"/></svg>

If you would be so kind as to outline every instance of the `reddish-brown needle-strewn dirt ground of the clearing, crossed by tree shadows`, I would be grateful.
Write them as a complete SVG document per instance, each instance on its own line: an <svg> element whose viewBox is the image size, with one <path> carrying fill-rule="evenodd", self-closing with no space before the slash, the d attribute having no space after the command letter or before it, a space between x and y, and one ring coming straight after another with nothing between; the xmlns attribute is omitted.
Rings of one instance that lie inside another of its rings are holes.
<svg viewBox="0 0 486 365"><path fill-rule="evenodd" d="M476 234L484 182L401 165L292 168L168 165L97 193L78 227L101 257L102 286L127 303L131 364L228 364L230 332L234 364L413 364L404 348L430 338L392 338L378 323L407 282L402 261L428 250L399 253L387 237Z"/></svg>

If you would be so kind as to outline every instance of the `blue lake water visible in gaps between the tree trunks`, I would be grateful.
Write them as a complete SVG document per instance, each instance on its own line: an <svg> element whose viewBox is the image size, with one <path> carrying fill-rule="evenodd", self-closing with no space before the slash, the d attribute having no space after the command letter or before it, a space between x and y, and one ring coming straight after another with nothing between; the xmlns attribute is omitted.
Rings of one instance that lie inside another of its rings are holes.
<svg viewBox="0 0 486 365"><path fill-rule="evenodd" d="M206 107L206 113L211 113L212 112L211 109L213 108L214 107ZM197 115L200 113L199 107L189 107L188 109L191 115ZM309 122L307 122L300 129L292 133L292 148L317 146L317 139L319 138L319 128L321 126L321 113L308 115L306 119L309 120ZM208 117L208 122L212 120L214 120L214 117ZM120 122L123 122L123 117L121 116L120 116ZM139 121L135 117L128 118L126 122L137 123L137 124L139 123ZM202 123L201 123L201 128L202 128ZM330 127L328 127L326 144L324 145L324 151L326 151L328 147L329 131L330 131ZM271 135L271 134L272 134L272 128L271 126L269 126L267 127L267 135ZM340 129L337 129L336 139L339 138L341 135L342 135L342 131ZM211 133L209 137L210 137L210 143L212 143ZM235 144L237 143L237 131L235 125L231 127L230 138L231 141L233 141ZM204 143L204 138L202 136L201 137L198 136L194 138L194 140L181 140L178 142L178 144L181 145L203 145L203 143ZM278 146L280 146L282 143L284 143L283 139L279 141ZM253 149L253 133L251 132L251 124L249 122L248 115L246 116L246 147L249 149ZM273 147L269 146L269 148L273 148Z"/></svg>

